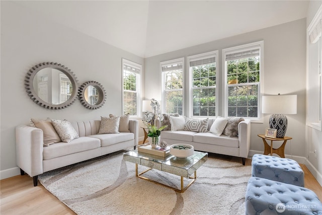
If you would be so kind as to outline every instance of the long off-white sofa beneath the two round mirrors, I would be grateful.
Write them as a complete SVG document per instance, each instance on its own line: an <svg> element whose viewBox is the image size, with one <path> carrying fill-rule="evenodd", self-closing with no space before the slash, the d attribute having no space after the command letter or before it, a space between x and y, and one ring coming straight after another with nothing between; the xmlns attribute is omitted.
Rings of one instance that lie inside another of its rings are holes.
<svg viewBox="0 0 322 215"><path fill-rule="evenodd" d="M129 131L98 134L101 120L71 122L79 134L70 142L57 142L44 147L43 130L29 125L16 127L16 157L21 174L38 175L138 145L138 120L129 120Z"/></svg>

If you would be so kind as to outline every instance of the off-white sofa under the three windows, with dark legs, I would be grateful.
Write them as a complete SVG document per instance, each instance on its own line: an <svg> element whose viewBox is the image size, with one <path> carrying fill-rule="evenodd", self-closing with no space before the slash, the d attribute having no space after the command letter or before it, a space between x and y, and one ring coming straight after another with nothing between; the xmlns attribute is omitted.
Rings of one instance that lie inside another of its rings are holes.
<svg viewBox="0 0 322 215"><path fill-rule="evenodd" d="M208 119L209 131L215 119ZM238 123L238 135L229 137L220 136L211 132L195 132L187 130L166 130L161 132L160 141L172 144L189 144L197 151L210 152L242 158L243 165L248 157L251 145L251 121L245 119Z"/></svg>

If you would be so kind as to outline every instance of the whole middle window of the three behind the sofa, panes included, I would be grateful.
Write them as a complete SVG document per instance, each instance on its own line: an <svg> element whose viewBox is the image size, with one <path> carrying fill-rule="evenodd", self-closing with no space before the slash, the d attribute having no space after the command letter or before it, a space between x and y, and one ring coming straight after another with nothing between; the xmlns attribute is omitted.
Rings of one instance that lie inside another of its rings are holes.
<svg viewBox="0 0 322 215"><path fill-rule="evenodd" d="M218 51L189 56L192 116L216 116L216 57Z"/></svg>

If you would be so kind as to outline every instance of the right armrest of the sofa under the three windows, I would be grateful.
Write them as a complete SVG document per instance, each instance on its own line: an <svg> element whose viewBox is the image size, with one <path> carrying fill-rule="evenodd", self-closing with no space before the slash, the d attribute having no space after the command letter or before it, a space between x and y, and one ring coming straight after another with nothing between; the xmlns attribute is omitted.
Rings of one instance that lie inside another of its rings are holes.
<svg viewBox="0 0 322 215"><path fill-rule="evenodd" d="M238 124L239 157L247 158L251 148L251 120L245 119Z"/></svg>

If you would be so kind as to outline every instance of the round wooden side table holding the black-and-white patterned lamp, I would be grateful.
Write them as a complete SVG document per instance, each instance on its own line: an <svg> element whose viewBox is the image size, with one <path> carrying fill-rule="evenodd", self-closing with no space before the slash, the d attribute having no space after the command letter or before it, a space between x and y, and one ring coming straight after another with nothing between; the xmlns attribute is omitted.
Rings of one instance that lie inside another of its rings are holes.
<svg viewBox="0 0 322 215"><path fill-rule="evenodd" d="M292 139L292 137L284 136L281 138L278 138L278 137L272 138L272 137L265 136L265 134L257 134L257 135L263 139L264 155L270 154L272 156L273 153L275 153L275 154L279 155L281 158L285 158L284 148L285 148L287 140ZM266 140L271 140L271 145L269 145ZM276 140L277 141L284 141L282 146L280 146L278 149L273 148L273 141L276 141Z"/></svg>

